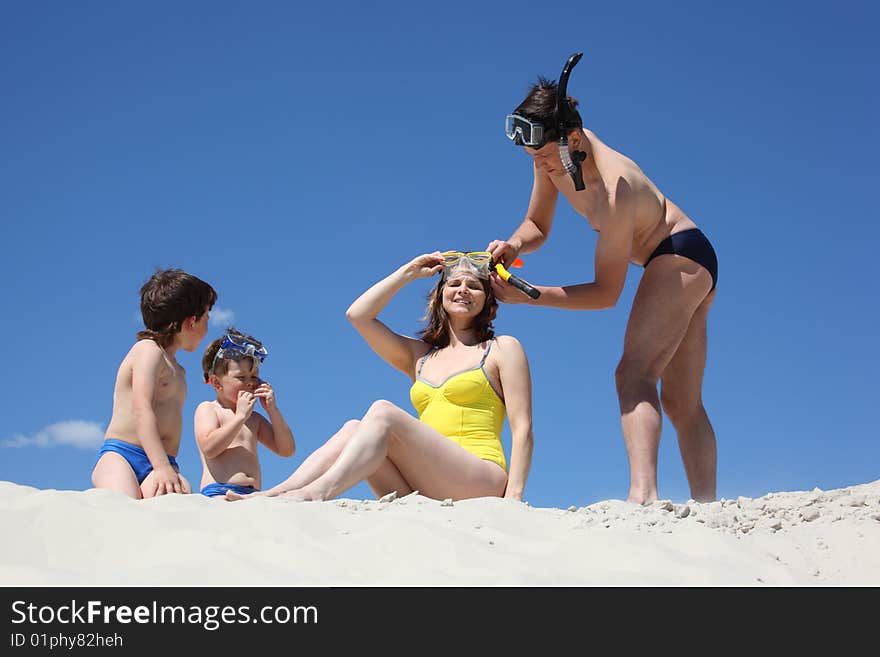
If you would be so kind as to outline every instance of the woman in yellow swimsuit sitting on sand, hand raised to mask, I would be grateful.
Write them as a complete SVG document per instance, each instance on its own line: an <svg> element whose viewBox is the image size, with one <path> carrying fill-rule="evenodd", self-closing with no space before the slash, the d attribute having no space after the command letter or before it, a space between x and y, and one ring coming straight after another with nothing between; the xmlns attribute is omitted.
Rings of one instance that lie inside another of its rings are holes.
<svg viewBox="0 0 880 657"><path fill-rule="evenodd" d="M498 303L489 254L421 255L364 292L345 313L370 347L413 380L419 419L374 402L313 452L286 481L255 495L326 500L366 479L377 497L413 491L435 499L522 500L532 460L531 376L516 338L494 337ZM440 273L420 339L377 319L407 283ZM510 422L510 472L501 445ZM227 499L242 496L229 492Z"/></svg>

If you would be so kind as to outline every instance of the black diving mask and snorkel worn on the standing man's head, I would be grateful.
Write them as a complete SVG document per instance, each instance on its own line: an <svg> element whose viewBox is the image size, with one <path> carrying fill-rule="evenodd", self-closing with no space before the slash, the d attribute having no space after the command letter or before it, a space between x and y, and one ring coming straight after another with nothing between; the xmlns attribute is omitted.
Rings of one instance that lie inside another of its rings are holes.
<svg viewBox="0 0 880 657"><path fill-rule="evenodd" d="M558 133L556 139L559 142L559 157L562 165L574 181L574 188L578 191L584 189L584 176L581 172L581 163L587 158L583 151L571 152L568 149L568 132L578 127L577 117L568 103L568 78L571 70L575 67L582 52L576 52L565 63L559 82L556 85L556 112L552 126L545 126L539 121L532 121L520 114L508 114L504 121L504 132L508 139L517 146L528 146L535 150L544 146L554 132Z"/></svg>

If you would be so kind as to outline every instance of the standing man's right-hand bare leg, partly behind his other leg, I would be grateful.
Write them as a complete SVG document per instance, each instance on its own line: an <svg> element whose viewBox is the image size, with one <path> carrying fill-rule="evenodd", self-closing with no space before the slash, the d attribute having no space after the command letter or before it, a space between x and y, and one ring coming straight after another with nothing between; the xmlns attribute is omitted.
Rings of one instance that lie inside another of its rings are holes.
<svg viewBox="0 0 880 657"><path fill-rule="evenodd" d="M675 426L681 460L691 497L698 502L715 499L717 450L715 431L703 407L703 371L706 367L706 318L715 293L691 318L687 333L661 376L660 401Z"/></svg>

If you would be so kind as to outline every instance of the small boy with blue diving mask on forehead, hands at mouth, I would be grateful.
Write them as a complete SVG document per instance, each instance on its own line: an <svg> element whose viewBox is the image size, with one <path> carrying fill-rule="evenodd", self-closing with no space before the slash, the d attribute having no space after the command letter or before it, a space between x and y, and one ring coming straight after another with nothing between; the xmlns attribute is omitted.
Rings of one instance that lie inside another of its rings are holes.
<svg viewBox="0 0 880 657"><path fill-rule="evenodd" d="M217 393L215 401L199 404L193 421L202 456L201 492L207 497L260 489L258 442L279 456L293 456L296 449L272 386L259 377L267 353L256 338L229 328L202 358L205 383ZM268 420L254 412L258 398Z"/></svg>

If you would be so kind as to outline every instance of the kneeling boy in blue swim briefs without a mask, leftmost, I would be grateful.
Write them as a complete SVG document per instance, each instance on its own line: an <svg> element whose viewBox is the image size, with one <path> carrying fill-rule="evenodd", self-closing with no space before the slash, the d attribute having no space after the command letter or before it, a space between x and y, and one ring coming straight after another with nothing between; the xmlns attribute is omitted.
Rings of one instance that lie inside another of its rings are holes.
<svg viewBox="0 0 880 657"><path fill-rule="evenodd" d="M146 330L116 374L113 415L92 470L95 488L135 499L191 492L175 460L186 399L186 371L175 354L196 350L216 300L214 288L180 269L159 270L141 288Z"/></svg>

